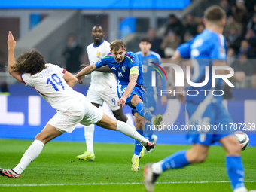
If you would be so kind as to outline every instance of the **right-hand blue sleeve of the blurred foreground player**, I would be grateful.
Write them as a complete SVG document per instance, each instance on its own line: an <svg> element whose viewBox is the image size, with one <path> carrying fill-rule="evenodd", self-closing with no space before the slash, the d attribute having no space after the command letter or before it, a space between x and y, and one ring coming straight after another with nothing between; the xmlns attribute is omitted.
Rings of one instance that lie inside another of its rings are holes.
<svg viewBox="0 0 256 192"><path fill-rule="evenodd" d="M226 59L226 40L223 35L216 35L215 39L212 39L212 49L210 52L210 58L213 60L225 60Z"/></svg>

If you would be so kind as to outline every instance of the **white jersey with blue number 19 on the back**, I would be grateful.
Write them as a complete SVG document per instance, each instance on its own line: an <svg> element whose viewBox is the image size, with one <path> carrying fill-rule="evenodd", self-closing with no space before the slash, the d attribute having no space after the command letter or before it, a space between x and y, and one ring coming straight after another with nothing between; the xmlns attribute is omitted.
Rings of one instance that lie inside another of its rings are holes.
<svg viewBox="0 0 256 192"><path fill-rule="evenodd" d="M41 97L58 111L66 111L74 102L84 98L83 94L73 90L64 80L65 69L50 63L45 66L46 69L35 75L23 73L23 83L35 88Z"/></svg>

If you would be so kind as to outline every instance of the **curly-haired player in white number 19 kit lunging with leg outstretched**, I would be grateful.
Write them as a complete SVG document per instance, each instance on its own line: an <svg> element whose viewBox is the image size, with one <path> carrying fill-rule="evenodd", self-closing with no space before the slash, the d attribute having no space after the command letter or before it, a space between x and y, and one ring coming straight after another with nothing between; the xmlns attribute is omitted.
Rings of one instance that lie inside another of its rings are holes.
<svg viewBox="0 0 256 192"><path fill-rule="evenodd" d="M78 79L59 66L45 63L44 57L37 50L23 53L15 61L15 46L14 36L9 32L9 73L18 81L35 88L41 97L56 109L56 114L44 126L41 133L35 136L35 141L23 154L20 163L14 169L0 168L0 175L8 178L19 178L23 170L41 154L47 142L64 132L72 133L78 123L86 126L95 123L109 130L117 130L138 140L148 149L154 148L154 144L141 136L132 126L112 120L99 108L93 106L83 94L73 90L72 87Z"/></svg>

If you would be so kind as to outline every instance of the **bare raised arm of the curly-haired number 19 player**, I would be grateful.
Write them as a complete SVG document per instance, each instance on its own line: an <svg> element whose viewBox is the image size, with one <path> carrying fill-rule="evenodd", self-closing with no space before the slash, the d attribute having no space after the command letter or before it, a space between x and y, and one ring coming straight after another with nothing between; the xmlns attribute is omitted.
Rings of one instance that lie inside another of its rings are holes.
<svg viewBox="0 0 256 192"><path fill-rule="evenodd" d="M14 69L12 68L16 63L15 57L14 57L14 49L16 47L16 41L14 40L14 36L12 35L12 33L10 31L8 34L7 44L8 44L8 71L9 71L10 75L12 75L18 81L23 82L20 77L21 74L18 72L14 72Z"/></svg>

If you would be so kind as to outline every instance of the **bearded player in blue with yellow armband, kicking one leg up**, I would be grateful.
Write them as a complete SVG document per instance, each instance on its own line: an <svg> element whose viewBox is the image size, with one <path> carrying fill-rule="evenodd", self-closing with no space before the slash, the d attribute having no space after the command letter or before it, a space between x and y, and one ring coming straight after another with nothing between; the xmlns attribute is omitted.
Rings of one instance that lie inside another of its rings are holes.
<svg viewBox="0 0 256 192"><path fill-rule="evenodd" d="M87 66L75 75L78 82L84 75L99 69L102 66L108 66L117 76L117 105L124 107L129 105L133 108L136 129L144 129L144 118L154 125L160 125L163 120L162 115L154 117L148 108L143 106L143 74L142 63L138 56L133 52L126 51L126 44L123 41L115 40L110 44L111 52L93 65ZM144 118L143 118L144 117ZM139 155L132 158L132 171L139 171Z"/></svg>

